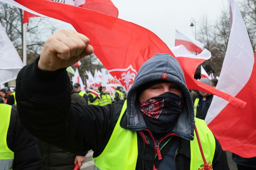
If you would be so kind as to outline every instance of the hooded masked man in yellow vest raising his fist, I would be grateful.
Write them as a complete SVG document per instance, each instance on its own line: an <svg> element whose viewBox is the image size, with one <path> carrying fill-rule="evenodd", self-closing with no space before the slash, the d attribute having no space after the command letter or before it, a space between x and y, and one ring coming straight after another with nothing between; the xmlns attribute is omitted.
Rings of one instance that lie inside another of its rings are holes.
<svg viewBox="0 0 256 170"><path fill-rule="evenodd" d="M69 50L57 48L63 44ZM34 63L21 69L17 107L31 134L75 153L92 149L95 170L229 170L218 140L204 120L194 117L175 57L160 53L149 58L127 100L107 106L70 102L65 68L91 53L86 36L61 30ZM54 94L43 91L57 87Z"/></svg>

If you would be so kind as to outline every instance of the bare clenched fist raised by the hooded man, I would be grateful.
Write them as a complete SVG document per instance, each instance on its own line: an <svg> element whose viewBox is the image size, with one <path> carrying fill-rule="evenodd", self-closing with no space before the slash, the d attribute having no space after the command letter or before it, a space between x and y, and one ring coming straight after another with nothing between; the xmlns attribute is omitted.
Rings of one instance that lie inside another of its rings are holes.
<svg viewBox="0 0 256 170"><path fill-rule="evenodd" d="M73 30L60 30L45 43L38 67L55 71L69 67L86 55L93 53L89 38Z"/></svg>

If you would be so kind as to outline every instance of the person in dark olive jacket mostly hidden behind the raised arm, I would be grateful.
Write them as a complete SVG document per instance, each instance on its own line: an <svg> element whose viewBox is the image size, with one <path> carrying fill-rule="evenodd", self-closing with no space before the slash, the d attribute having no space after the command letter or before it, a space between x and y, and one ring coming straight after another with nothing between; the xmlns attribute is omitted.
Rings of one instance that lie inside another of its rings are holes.
<svg viewBox="0 0 256 170"><path fill-rule="evenodd" d="M72 84L70 84L70 87L72 88L71 101L86 104L85 99L78 94ZM41 152L44 170L73 170L77 163L78 166L81 167L87 153L85 152L74 154L71 152L63 151L59 147L39 139L37 139L37 144Z"/></svg>

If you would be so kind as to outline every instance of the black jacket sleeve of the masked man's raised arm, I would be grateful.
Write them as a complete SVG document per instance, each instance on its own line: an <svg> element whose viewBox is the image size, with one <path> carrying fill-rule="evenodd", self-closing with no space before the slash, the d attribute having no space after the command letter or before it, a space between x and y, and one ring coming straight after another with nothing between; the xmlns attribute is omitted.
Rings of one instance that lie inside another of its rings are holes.
<svg viewBox="0 0 256 170"><path fill-rule="evenodd" d="M66 69L38 68L39 58L17 76L17 109L23 126L35 137L74 153L105 147L119 115L105 107L70 101Z"/></svg>

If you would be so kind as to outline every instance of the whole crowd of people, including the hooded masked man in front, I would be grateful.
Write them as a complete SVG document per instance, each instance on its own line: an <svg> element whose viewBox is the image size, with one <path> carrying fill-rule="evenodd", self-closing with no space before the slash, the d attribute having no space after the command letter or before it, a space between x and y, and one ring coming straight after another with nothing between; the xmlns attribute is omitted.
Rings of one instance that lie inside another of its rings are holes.
<svg viewBox="0 0 256 170"><path fill-rule="evenodd" d="M63 44L69 50L53 50ZM152 56L128 94L119 86L110 96L105 87L82 91L70 82L65 68L91 53L86 36L61 30L21 69L14 92L0 90L3 170L72 170L91 149L95 170L229 170L204 122L213 95L189 90L174 57ZM217 85L216 79L200 82Z"/></svg>

